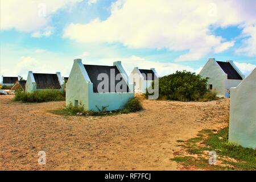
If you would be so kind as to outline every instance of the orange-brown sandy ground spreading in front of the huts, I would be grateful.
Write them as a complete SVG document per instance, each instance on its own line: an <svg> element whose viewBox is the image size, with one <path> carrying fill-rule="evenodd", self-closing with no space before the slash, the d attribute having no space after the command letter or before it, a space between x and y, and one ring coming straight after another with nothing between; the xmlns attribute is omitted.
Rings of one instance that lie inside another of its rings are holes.
<svg viewBox="0 0 256 182"><path fill-rule="evenodd" d="M176 140L228 125L229 100L143 100L144 110L108 117L48 113L64 102L22 104L0 96L2 170L177 170ZM46 152L46 165L38 152Z"/></svg>

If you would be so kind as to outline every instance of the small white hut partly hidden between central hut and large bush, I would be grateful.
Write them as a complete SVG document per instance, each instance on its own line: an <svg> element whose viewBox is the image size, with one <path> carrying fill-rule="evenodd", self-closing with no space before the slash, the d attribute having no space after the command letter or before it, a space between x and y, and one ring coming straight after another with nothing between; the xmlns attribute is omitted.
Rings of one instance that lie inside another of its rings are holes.
<svg viewBox="0 0 256 182"><path fill-rule="evenodd" d="M134 84L134 92L146 93L147 88L150 88L155 78L159 78L155 68L139 69L135 67L129 79Z"/></svg>

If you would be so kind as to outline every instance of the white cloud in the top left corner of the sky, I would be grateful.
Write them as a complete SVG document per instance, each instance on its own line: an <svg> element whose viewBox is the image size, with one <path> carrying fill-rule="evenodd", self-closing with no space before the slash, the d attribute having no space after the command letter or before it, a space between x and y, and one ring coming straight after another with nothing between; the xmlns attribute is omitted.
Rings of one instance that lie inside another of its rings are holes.
<svg viewBox="0 0 256 182"><path fill-rule="evenodd" d="M17 0L1 1L1 30L38 31L47 27L51 15L71 3L81 0Z"/></svg>

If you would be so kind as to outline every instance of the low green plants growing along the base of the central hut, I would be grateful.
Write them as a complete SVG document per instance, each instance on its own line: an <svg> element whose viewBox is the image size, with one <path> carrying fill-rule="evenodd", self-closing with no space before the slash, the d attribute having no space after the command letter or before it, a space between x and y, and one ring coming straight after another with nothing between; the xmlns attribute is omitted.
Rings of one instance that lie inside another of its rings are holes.
<svg viewBox="0 0 256 182"><path fill-rule="evenodd" d="M96 106L98 111L94 110L86 110L84 108L84 105L79 103L79 106L73 106L72 103L70 103L67 106L64 106L61 109L58 110L52 110L50 111L53 114L59 114L59 115L85 115L85 116L101 116L101 115L110 115L110 114L127 114L127 113L133 113L135 111L142 110L141 102L138 100L138 98L131 98L129 101L127 101L126 105L123 107L122 110L113 110L113 111L107 111L108 106L102 106L100 109L98 106Z"/></svg>

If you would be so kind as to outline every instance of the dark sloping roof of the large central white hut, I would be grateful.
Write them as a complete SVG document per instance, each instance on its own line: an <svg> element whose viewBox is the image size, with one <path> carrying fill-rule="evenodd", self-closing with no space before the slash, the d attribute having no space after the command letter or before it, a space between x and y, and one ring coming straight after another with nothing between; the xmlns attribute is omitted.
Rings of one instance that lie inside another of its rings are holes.
<svg viewBox="0 0 256 182"><path fill-rule="evenodd" d="M114 69L115 77L116 77L120 73L116 66L102 66L102 65L85 64L84 68L85 68L86 72L88 73L90 81L93 83L93 92L98 93L98 89L97 89L98 84L100 84L100 82L102 82L102 80L97 80L98 75L100 73L106 73L106 75L108 75L108 77L109 77L109 92L112 92L112 90L110 90L110 70ZM121 77L121 80L122 79L123 79L123 77ZM115 80L115 86L121 80ZM123 90L123 92L130 92L127 84L125 84L125 88L121 87L121 89ZM115 92L117 92L117 90L115 90Z"/></svg>

